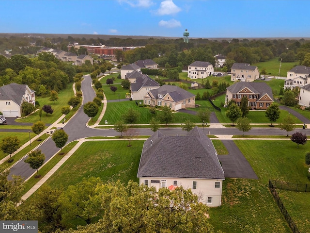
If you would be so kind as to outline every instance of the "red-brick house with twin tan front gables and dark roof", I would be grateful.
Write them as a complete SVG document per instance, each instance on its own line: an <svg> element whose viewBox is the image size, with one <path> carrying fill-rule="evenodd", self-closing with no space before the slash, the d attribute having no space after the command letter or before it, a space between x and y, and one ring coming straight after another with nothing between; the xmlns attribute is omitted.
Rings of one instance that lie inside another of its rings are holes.
<svg viewBox="0 0 310 233"><path fill-rule="evenodd" d="M225 104L234 100L239 106L243 97L248 98L250 109L267 109L273 103L273 94L266 83L238 82L226 88Z"/></svg>

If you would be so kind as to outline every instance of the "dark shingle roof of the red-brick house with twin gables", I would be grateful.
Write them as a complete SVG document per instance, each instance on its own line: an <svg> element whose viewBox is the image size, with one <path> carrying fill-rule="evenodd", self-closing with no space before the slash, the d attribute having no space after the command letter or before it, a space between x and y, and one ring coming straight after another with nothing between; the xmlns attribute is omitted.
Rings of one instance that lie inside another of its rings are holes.
<svg viewBox="0 0 310 233"><path fill-rule="evenodd" d="M233 94L239 93L245 87L250 89L253 93L259 94L259 97L262 97L264 94L267 94L271 99L273 99L273 94L270 86L266 83L256 83L256 82L237 82L233 85L227 87L226 89ZM259 99L259 98L258 98Z"/></svg>

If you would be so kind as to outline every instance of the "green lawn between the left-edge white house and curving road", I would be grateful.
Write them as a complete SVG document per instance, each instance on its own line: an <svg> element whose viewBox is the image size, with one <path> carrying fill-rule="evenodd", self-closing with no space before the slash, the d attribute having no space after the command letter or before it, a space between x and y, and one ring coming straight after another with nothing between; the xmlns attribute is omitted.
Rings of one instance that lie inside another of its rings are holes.
<svg viewBox="0 0 310 233"><path fill-rule="evenodd" d="M45 97L45 98L36 97L36 100L39 101L39 103L40 103L40 108L42 108L43 105L51 105L52 109L54 109L53 114L46 114L45 112L42 112L42 119L41 120L44 123L52 124L59 117L62 116L62 112L61 112L62 107L67 106L68 100L74 96L72 84L73 83L68 83L67 88L58 93L59 99L57 101L55 101L55 103L53 101L48 100L49 97ZM34 122L39 121L39 120L40 120L40 116L39 116L38 111L36 111L31 116L28 116L27 118L16 119L17 122L31 122L31 123L34 123Z"/></svg>

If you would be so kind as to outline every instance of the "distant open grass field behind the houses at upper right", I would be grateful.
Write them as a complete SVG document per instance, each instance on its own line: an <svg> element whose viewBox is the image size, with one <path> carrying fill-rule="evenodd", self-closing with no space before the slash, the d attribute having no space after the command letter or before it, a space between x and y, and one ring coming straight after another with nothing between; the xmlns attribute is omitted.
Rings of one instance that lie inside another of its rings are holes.
<svg viewBox="0 0 310 233"><path fill-rule="evenodd" d="M252 66L257 66L259 71L262 72L263 69L266 69L267 75L279 76L279 67L280 61L279 58L273 58L267 62L258 62L251 64ZM294 66L299 65L298 62L282 62L280 69L280 76L286 77L287 71L292 69Z"/></svg>

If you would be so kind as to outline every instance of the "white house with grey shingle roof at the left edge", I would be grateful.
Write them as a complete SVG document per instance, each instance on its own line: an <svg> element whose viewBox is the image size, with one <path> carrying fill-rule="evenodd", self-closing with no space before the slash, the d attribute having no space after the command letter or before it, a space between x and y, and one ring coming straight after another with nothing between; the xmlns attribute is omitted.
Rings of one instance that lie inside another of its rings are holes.
<svg viewBox="0 0 310 233"><path fill-rule="evenodd" d="M35 104L34 91L26 84L10 83L0 87L0 112L5 117L20 117L23 102Z"/></svg>

